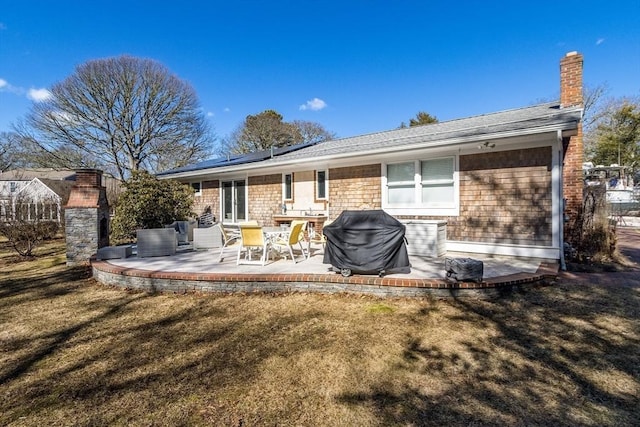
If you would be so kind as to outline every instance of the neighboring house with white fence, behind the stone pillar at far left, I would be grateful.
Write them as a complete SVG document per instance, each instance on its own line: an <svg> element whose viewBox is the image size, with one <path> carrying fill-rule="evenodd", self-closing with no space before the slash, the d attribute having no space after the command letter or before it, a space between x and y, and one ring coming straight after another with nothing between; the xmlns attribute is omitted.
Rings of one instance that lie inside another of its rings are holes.
<svg viewBox="0 0 640 427"><path fill-rule="evenodd" d="M73 170L37 168L0 172L0 221L19 218L62 222L63 207L75 180ZM112 189L119 187L113 178L105 181Z"/></svg>

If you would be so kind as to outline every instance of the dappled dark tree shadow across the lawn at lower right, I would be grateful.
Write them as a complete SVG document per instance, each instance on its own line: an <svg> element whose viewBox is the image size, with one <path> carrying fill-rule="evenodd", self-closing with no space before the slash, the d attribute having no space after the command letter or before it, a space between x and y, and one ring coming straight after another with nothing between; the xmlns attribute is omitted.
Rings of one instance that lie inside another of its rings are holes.
<svg viewBox="0 0 640 427"><path fill-rule="evenodd" d="M339 400L372 408L381 425L613 426L640 419L638 289L562 285L451 304L459 328L489 332L446 348L428 333L407 337L403 360L383 377L418 375L421 385L385 380Z"/></svg>

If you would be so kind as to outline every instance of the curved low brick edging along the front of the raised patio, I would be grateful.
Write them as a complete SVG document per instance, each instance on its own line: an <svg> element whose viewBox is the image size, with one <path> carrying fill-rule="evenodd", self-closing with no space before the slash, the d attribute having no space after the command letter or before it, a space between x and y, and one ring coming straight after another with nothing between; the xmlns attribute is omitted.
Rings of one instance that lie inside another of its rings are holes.
<svg viewBox="0 0 640 427"><path fill-rule="evenodd" d="M523 284L555 279L557 264L542 263L535 273L517 273L480 283L444 279L409 279L340 274L180 273L133 269L106 261L91 261L93 276L124 289L169 292L320 292L380 296L487 296Z"/></svg>

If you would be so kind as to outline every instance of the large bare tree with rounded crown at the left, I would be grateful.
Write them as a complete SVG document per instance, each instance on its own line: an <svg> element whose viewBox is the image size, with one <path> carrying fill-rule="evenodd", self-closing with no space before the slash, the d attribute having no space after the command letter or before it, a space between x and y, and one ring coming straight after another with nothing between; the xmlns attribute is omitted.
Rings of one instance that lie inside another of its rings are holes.
<svg viewBox="0 0 640 427"><path fill-rule="evenodd" d="M126 179L211 154L195 91L156 61L88 61L51 95L33 104L22 135L66 167L103 167Z"/></svg>

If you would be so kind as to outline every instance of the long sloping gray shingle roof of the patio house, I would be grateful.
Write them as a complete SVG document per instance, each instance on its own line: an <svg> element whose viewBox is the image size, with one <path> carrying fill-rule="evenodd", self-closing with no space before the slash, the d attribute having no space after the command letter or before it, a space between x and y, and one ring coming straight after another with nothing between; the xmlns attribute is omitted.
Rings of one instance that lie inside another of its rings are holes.
<svg viewBox="0 0 640 427"><path fill-rule="evenodd" d="M392 152L416 145L428 148L458 142L482 141L483 138L501 134L526 135L557 129L569 130L576 129L581 117L581 108L563 109L557 102L546 103L424 126L324 141L289 150L273 157L265 156L258 162L264 166L273 166L300 159L357 157L372 152ZM243 162L242 159L234 159L233 165L241 166L250 162L255 163L256 161L255 159L250 161L249 158L246 162ZM163 172L161 175L168 176L173 173L196 172L205 169L213 171L231 165L218 159L214 162L201 162L179 170Z"/></svg>

